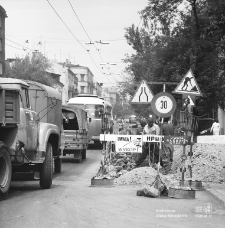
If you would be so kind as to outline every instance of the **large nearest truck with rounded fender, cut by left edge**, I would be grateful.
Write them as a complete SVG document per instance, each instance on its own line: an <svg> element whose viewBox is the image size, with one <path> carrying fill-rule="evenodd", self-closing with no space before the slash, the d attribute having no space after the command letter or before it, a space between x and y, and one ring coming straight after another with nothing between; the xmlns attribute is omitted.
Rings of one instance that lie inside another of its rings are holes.
<svg viewBox="0 0 225 228"><path fill-rule="evenodd" d="M0 198L13 173L36 172L42 189L61 172L61 93L33 81L0 78Z"/></svg>

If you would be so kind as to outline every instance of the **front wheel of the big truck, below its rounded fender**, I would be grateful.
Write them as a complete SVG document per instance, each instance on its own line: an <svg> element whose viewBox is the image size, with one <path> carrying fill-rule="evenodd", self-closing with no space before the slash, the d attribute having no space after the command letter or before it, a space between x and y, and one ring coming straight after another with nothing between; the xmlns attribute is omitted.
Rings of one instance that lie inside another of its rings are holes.
<svg viewBox="0 0 225 228"><path fill-rule="evenodd" d="M53 175L52 145L50 143L48 143L45 161L41 165L41 171L40 171L40 186L41 186L41 188L43 188L43 189L51 188L52 175Z"/></svg>

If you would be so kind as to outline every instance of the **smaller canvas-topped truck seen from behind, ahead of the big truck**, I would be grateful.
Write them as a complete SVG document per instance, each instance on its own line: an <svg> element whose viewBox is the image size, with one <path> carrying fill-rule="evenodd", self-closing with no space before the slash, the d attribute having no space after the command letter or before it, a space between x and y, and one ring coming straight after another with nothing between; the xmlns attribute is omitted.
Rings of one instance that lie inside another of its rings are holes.
<svg viewBox="0 0 225 228"><path fill-rule="evenodd" d="M77 162L86 159L89 143L89 119L87 112L75 105L62 105L63 124L61 151L63 156L73 154Z"/></svg>

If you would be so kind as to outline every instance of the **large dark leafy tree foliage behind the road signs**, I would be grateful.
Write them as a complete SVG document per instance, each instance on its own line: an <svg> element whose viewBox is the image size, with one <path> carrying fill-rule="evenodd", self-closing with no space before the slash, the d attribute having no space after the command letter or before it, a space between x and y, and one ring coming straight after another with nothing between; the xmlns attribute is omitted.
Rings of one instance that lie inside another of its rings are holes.
<svg viewBox="0 0 225 228"><path fill-rule="evenodd" d="M149 0L140 12L143 26L126 28L125 37L136 53L124 60L130 74L129 89L124 84L124 90L133 95L143 79L179 83L191 68L203 93L197 113L224 108L224 12L223 0Z"/></svg>

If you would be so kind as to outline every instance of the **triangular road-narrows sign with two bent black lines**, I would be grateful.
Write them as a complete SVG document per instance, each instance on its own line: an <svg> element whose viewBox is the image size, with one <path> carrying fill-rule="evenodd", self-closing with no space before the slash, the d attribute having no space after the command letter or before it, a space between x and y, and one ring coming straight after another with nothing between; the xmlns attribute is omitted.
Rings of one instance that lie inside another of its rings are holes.
<svg viewBox="0 0 225 228"><path fill-rule="evenodd" d="M153 98L153 93L148 87L147 83L143 80L136 90L131 103L133 104L149 104Z"/></svg>

